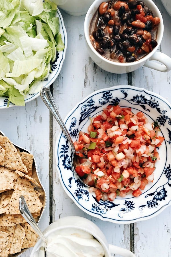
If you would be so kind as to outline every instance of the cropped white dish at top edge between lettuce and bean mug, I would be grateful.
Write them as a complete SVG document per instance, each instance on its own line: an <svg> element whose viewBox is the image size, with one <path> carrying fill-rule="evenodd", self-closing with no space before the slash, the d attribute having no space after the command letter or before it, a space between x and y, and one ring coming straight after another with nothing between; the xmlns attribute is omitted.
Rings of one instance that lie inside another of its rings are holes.
<svg viewBox="0 0 171 257"><path fill-rule="evenodd" d="M80 16L87 13L88 8L94 0L52 0L59 8L66 13L74 16Z"/></svg>

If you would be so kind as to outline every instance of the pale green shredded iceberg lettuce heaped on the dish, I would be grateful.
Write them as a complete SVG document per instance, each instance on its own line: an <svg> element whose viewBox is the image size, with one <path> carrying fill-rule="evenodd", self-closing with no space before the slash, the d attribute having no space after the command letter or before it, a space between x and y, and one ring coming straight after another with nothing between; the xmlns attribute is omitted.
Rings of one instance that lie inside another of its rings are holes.
<svg viewBox="0 0 171 257"><path fill-rule="evenodd" d="M0 0L0 96L8 105L40 91L64 49L56 10L50 0Z"/></svg>

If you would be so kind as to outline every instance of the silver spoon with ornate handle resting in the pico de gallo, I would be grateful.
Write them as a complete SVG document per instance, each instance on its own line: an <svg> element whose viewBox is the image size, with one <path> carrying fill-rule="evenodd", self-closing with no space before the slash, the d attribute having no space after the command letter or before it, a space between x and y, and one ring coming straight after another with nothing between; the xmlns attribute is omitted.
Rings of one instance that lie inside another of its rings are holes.
<svg viewBox="0 0 171 257"><path fill-rule="evenodd" d="M40 96L42 97L43 102L45 103L45 105L48 107L49 111L52 113L52 115L54 116L54 118L56 119L56 121L58 122L58 124L60 125L60 127L62 128L62 130L64 131L64 133L66 134L66 137L68 138L68 141L70 142L71 148L72 148L72 158L71 158L71 162L72 162L72 166L73 166L73 170L74 173L78 176L78 174L75 171L75 167L80 164L79 160L78 160L78 155L76 155L76 149L74 146L74 143L72 141L72 138L64 124L64 122L62 121L60 114L58 112L58 109L56 107L56 104L54 102L54 99L52 97L52 94L50 93L50 90L46 87L42 87L40 89ZM79 177L79 179L81 180L81 182L87 186L88 186L85 182L83 182L83 180Z"/></svg>

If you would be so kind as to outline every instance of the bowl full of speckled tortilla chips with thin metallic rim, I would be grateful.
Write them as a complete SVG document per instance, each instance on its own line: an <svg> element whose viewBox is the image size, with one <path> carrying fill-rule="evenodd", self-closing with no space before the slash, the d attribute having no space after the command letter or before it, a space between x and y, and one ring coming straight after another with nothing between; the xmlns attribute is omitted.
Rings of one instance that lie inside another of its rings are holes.
<svg viewBox="0 0 171 257"><path fill-rule="evenodd" d="M38 223L46 206L46 192L34 156L0 131L0 256L18 256L35 245L38 235L19 211L23 195Z"/></svg>

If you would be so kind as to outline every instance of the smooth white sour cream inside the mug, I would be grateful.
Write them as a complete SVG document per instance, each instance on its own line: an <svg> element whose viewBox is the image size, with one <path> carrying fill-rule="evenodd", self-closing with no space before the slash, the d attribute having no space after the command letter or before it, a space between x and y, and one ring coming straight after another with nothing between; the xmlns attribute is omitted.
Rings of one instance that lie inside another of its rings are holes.
<svg viewBox="0 0 171 257"><path fill-rule="evenodd" d="M105 252L97 239L91 234L76 228L56 230L46 237L47 257L103 257ZM42 257L43 246L34 253Z"/></svg>

